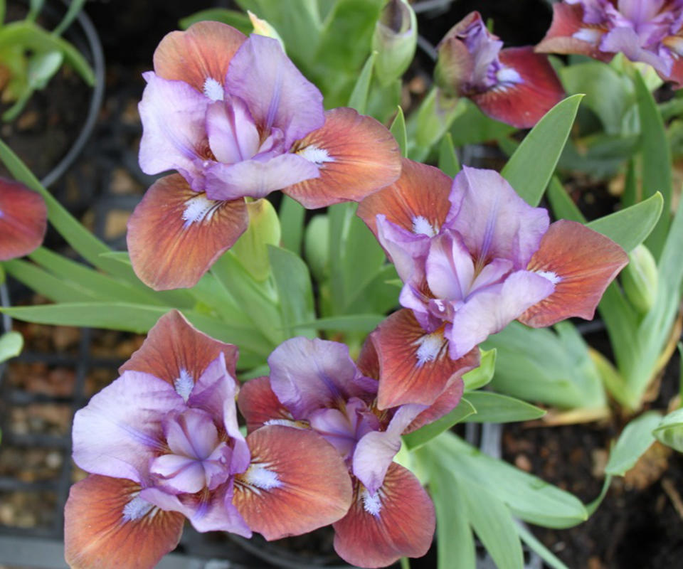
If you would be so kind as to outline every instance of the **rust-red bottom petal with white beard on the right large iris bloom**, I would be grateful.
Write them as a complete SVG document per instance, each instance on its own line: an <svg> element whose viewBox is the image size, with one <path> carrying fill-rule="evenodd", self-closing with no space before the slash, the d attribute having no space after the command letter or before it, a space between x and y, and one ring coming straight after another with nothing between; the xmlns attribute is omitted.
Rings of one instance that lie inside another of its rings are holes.
<svg viewBox="0 0 683 569"><path fill-rule="evenodd" d="M442 331L425 332L410 310L394 312L378 328L378 408L432 405L445 388L479 365L479 350L452 360Z"/></svg>

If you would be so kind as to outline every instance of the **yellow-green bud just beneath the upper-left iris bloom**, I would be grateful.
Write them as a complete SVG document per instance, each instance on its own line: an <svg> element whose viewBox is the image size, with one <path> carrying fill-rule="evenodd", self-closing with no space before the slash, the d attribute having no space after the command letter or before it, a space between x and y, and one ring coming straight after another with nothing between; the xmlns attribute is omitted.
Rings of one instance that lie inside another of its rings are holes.
<svg viewBox="0 0 683 569"><path fill-rule="evenodd" d="M268 245L280 243L280 219L268 200L247 203L249 228L233 245L233 253L255 280L263 281L270 275Z"/></svg>

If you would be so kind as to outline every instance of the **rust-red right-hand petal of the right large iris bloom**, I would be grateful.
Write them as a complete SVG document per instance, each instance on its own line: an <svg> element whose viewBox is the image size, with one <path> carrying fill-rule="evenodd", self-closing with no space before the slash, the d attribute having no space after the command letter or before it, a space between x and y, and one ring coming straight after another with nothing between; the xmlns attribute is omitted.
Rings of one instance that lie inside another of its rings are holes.
<svg viewBox="0 0 683 569"><path fill-rule="evenodd" d="M556 221L529 262L529 270L554 282L554 292L519 321L541 328L573 316L593 318L603 292L627 264L613 240L581 223Z"/></svg>

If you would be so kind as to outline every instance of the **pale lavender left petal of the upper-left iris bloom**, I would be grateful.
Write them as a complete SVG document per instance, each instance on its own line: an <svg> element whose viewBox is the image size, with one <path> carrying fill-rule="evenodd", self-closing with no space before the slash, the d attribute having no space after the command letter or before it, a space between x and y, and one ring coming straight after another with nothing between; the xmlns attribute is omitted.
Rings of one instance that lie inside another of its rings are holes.
<svg viewBox="0 0 683 569"><path fill-rule="evenodd" d="M194 190L201 191L201 164L208 159L202 147L210 101L183 81L162 79L152 71L143 77L147 87L139 103L140 168L145 174L177 170Z"/></svg>

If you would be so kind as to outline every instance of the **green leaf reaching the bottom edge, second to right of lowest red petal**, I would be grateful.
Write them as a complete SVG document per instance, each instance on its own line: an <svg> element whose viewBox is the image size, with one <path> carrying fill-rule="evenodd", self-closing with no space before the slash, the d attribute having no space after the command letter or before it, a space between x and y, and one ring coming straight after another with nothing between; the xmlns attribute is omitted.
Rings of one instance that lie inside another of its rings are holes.
<svg viewBox="0 0 683 569"><path fill-rule="evenodd" d="M524 569L524 555L517 528L507 506L498 496L489 494L479 484L463 485L467 517L498 569Z"/></svg>

